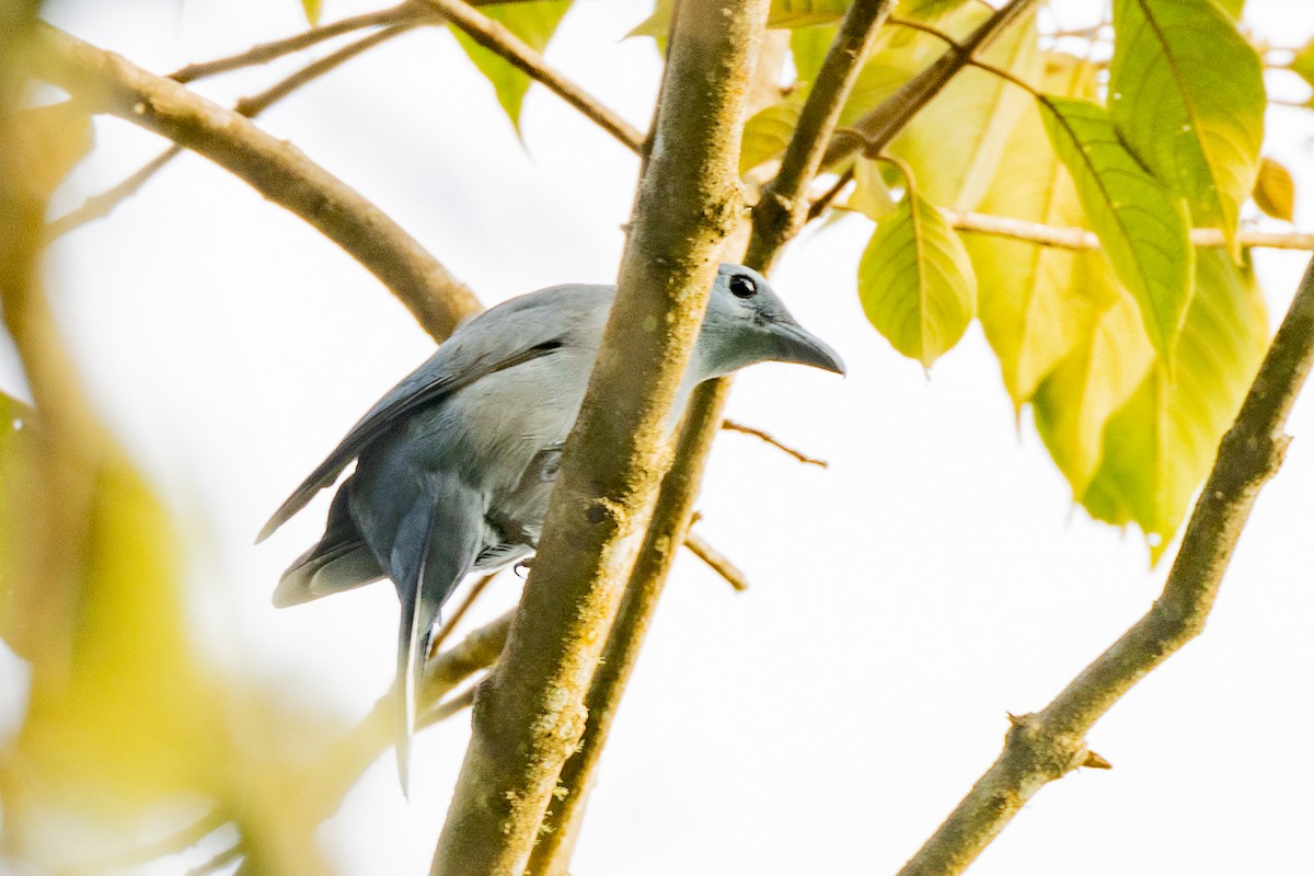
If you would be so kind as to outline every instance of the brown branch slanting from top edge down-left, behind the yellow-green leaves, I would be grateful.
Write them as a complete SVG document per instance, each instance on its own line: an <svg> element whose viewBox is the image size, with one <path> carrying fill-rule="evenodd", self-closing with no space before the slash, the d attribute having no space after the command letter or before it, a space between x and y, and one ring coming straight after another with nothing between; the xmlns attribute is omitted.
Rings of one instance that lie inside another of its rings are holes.
<svg viewBox="0 0 1314 876"><path fill-rule="evenodd" d="M912 117L929 104L949 84L949 80L971 60L972 53L986 49L1004 29L1028 13L1035 1L1009 0L1000 7L962 43L950 46L943 55L904 83L883 104L844 131L837 133L825 150L821 167L833 167L858 148L879 152L888 146L895 135L912 121Z"/></svg>

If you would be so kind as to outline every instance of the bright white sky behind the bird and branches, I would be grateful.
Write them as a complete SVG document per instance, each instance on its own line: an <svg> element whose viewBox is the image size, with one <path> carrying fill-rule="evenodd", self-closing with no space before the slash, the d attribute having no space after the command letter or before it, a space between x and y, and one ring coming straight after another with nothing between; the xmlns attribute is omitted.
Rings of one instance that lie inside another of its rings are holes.
<svg viewBox="0 0 1314 876"><path fill-rule="evenodd" d="M657 56L649 41L620 37L646 5L581 0L549 51L640 127ZM1250 4L1279 45L1314 32L1311 5ZM60 26L156 72L304 26L296 0L50 7ZM377 8L325 7L326 20ZM1072 0L1064 24L1091 8ZM230 102L296 67L197 89ZM636 160L540 89L522 146L447 33L374 50L260 125L372 198L486 303L615 277ZM113 120L97 135L60 209L162 146ZM1275 114L1271 138L1307 192L1310 117ZM1314 227L1307 200L1298 206L1298 225ZM773 277L850 373L757 366L737 380L731 415L830 469L750 437L719 440L699 531L753 587L736 595L689 556L677 566L604 756L576 876L892 872L993 760L1005 712L1043 707L1159 592L1166 570L1146 569L1139 538L1075 510L1026 416L1014 427L978 327L929 380L870 328L854 286L870 227L851 218L805 235ZM1260 256L1275 324L1302 265L1300 253ZM326 502L259 548L251 538L428 355L427 338L318 232L191 155L109 221L62 240L51 273L101 412L185 520L209 653L289 695L363 713L392 678L392 588L275 611L279 573L318 537ZM1205 636L1089 735L1116 768L1043 789L975 875L1230 876L1307 862L1307 401L1290 432ZM505 609L516 587L505 577L481 617ZM0 688L21 675L12 658L0 672ZM413 775L424 779L409 805L390 756L374 764L322 831L344 872L426 872L465 735L460 718L420 737Z"/></svg>

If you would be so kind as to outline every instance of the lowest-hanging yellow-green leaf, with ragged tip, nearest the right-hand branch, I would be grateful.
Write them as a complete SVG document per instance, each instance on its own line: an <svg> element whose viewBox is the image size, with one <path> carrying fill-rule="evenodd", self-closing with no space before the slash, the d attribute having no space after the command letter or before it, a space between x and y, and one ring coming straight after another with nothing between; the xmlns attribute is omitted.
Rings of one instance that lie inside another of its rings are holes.
<svg viewBox="0 0 1314 876"><path fill-rule="evenodd" d="M1104 460L1081 496L1092 516L1139 525L1155 562L1213 465L1268 343L1264 299L1248 265L1201 250L1197 284L1173 378L1155 362L1109 420Z"/></svg>

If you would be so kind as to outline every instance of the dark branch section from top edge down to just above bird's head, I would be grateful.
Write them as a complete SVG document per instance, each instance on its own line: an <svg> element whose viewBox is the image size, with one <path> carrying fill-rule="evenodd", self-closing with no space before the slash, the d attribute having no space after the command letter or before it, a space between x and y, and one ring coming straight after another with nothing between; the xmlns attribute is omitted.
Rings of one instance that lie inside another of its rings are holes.
<svg viewBox="0 0 1314 876"><path fill-rule="evenodd" d="M808 221L808 204L803 197L821 167L827 143L840 122L853 83L862 71L862 60L875 38L880 20L888 13L888 0L855 0L840 22L840 32L827 51L816 83L803 104L781 169L762 189L753 208L753 238L746 261L766 272L787 240Z"/></svg>

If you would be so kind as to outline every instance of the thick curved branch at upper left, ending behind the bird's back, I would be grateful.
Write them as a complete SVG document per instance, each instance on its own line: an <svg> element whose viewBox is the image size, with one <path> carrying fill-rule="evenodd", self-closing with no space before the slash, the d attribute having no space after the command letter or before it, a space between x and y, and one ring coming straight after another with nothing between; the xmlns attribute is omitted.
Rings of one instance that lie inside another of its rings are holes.
<svg viewBox="0 0 1314 876"><path fill-rule="evenodd" d="M378 277L436 339L480 310L474 296L414 238L290 143L240 114L54 28L41 29L39 75L231 171L296 213Z"/></svg>

